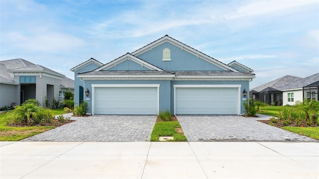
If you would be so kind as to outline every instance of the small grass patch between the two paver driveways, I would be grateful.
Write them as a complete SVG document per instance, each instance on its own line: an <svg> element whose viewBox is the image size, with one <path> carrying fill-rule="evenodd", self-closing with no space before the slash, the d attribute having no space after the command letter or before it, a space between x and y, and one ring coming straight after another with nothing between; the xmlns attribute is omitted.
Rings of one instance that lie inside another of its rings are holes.
<svg viewBox="0 0 319 179"><path fill-rule="evenodd" d="M173 140L167 140L172 142L185 142L187 141L186 137L183 134L176 132L175 128L180 128L178 121L162 121L155 123L151 141L158 142L159 137L162 136L173 136Z"/></svg>

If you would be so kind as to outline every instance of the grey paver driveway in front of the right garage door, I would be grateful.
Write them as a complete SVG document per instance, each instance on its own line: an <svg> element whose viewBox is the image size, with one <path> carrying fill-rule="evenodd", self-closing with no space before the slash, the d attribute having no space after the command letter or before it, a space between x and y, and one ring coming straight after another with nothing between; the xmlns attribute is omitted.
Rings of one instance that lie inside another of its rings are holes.
<svg viewBox="0 0 319 179"><path fill-rule="evenodd" d="M300 141L318 140L237 115L177 115L188 141ZM269 119L270 116L266 117Z"/></svg>

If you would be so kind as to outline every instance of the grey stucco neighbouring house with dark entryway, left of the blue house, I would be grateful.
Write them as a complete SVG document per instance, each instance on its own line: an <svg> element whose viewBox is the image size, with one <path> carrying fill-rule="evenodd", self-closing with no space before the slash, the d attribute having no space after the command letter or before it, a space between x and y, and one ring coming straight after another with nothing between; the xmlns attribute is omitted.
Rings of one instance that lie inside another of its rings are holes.
<svg viewBox="0 0 319 179"><path fill-rule="evenodd" d="M51 103L63 99L66 90L74 91L74 81L53 70L23 59L0 61L0 107L29 98L45 107L45 96Z"/></svg>

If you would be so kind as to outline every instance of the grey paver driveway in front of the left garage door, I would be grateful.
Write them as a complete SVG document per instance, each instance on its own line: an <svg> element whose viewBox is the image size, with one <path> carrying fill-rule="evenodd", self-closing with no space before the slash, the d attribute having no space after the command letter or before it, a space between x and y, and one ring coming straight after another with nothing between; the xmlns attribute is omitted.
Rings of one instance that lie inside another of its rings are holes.
<svg viewBox="0 0 319 179"><path fill-rule="evenodd" d="M135 142L150 141L156 115L93 115L22 141Z"/></svg>

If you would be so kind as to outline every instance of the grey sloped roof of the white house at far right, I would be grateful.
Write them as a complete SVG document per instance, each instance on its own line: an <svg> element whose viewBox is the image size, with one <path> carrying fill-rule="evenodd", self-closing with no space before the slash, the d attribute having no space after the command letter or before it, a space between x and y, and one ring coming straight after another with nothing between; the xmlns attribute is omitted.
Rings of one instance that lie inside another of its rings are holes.
<svg viewBox="0 0 319 179"><path fill-rule="evenodd" d="M302 89L303 87L319 81L319 73L296 81L294 83L282 86L280 90Z"/></svg>

